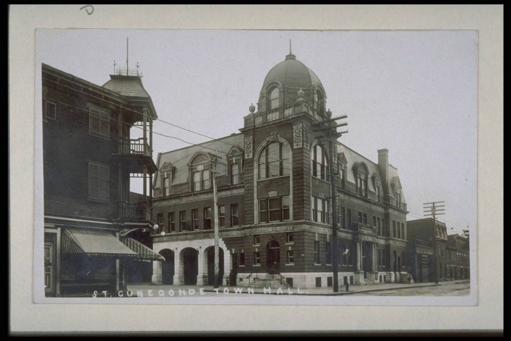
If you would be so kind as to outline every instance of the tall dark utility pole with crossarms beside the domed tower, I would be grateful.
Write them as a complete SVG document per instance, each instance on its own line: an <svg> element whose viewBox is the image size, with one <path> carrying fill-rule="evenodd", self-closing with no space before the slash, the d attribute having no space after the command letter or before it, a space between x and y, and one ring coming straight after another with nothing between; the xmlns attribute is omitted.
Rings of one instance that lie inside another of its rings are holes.
<svg viewBox="0 0 511 341"><path fill-rule="evenodd" d="M331 118L332 111L330 109L327 111L327 116L329 119L324 120L320 123L314 125L312 131L326 131L328 138L326 140L330 141L330 185L331 185L331 198L332 198L332 267L333 267L333 290L334 292L339 292L339 257L338 257L338 247L337 247L337 186L336 186L336 176L337 175L337 163L334 162L334 153L337 152L337 139L341 137L343 133L347 133L347 130L338 132L337 127L346 126L347 123L343 122L340 124L336 124L337 120L343 120L347 118L346 115ZM327 124L325 127L324 124ZM335 158L337 160L337 158Z"/></svg>

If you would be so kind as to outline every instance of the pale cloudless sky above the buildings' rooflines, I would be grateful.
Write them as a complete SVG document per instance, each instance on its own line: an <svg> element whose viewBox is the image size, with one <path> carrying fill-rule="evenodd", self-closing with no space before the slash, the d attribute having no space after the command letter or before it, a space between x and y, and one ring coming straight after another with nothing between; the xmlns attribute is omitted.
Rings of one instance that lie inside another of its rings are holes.
<svg viewBox="0 0 511 341"><path fill-rule="evenodd" d="M327 108L348 117L339 141L375 163L378 149L389 150L407 220L423 217L424 202L445 201L438 220L448 234L476 228L476 31L38 30L36 65L103 85L114 60L126 66L127 37L129 66L140 64L159 119L212 138L239 132L291 39ZM153 130L208 140L161 121ZM156 134L154 159L188 145Z"/></svg>

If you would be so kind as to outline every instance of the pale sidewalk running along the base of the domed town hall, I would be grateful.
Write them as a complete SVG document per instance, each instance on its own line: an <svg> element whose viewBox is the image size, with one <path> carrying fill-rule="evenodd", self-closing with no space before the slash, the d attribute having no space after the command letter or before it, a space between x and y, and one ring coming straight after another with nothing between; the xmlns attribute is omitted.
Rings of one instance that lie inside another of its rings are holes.
<svg viewBox="0 0 511 341"><path fill-rule="evenodd" d="M371 292L371 291L383 291L383 290L396 290L396 289L408 289L408 288L417 288L417 287L429 287L429 286L438 286L438 285L446 285L446 284L460 284L460 283L466 283L470 282L470 280L460 280L460 281L446 281L446 282L439 282L438 284L435 284L434 282L427 282L427 283L414 283L414 284L407 284L407 283L385 283L385 284L370 284L370 285L350 285L350 291L345 291L345 286L339 286L339 292L333 292L332 287L326 287L326 288L311 288L311 289L303 289L303 288L290 288L289 290L291 293L299 293L300 294L307 294L307 295L345 295L345 294L353 294L358 292ZM200 288L203 288L205 292L216 292L216 290L213 289L213 286L211 285L152 285L152 284L132 284L128 285L128 290L136 291L136 290L174 290L178 291L181 290L188 290L188 289L195 289L198 291ZM218 291L220 293L223 292L225 288L228 288L229 292L234 293L235 288L242 288L242 293L247 293L247 287L242 286L220 286L218 288ZM271 294L277 294L278 288L271 288ZM262 288L254 288L253 293L257 294L264 294L264 289ZM284 294L288 294L289 291L287 288L282 288L282 291ZM268 290L267 293L268 294Z"/></svg>

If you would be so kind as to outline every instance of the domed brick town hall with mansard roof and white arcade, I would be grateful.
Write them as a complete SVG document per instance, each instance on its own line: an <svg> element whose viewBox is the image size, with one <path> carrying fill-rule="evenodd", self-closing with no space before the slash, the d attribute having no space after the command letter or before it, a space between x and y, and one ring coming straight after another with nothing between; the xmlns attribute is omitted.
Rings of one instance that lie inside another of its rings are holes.
<svg viewBox="0 0 511 341"><path fill-rule="evenodd" d="M332 173L339 283L406 281L397 169L386 149L375 163L314 132L331 118L326 99L314 72L289 54L267 74L239 133L158 154L153 213L164 235L153 235L153 249L166 261L153 263L153 283L213 284L218 210L224 284L232 274L236 285L331 286Z"/></svg>

